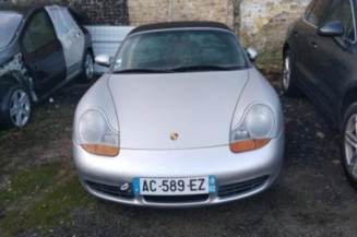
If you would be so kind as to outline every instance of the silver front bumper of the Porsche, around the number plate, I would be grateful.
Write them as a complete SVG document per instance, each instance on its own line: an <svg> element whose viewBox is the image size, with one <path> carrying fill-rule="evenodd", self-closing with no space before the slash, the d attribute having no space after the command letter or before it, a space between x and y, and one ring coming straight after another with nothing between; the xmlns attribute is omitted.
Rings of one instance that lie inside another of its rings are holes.
<svg viewBox="0 0 357 237"><path fill-rule="evenodd" d="M243 199L267 189L277 178L284 154L284 132L260 150L234 154L228 146L195 150L120 150L102 157L73 143L73 158L83 187L100 199L145 206L201 206ZM134 197L120 187L134 177L216 177L217 192L182 200Z"/></svg>

